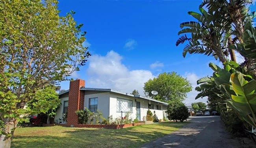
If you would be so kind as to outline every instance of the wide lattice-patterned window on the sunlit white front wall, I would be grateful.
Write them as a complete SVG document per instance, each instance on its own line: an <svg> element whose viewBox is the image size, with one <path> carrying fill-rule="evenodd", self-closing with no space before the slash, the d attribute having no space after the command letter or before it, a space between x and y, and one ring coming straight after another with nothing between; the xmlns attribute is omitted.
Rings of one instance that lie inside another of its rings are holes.
<svg viewBox="0 0 256 148"><path fill-rule="evenodd" d="M132 113L132 100L117 98L117 112L121 111Z"/></svg>

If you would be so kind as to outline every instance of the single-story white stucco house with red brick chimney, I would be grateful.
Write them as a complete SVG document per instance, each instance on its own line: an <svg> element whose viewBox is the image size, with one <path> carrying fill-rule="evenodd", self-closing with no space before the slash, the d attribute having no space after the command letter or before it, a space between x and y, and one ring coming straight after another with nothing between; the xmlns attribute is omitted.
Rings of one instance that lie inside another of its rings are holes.
<svg viewBox="0 0 256 148"><path fill-rule="evenodd" d="M69 90L59 93L59 99L61 104L54 120L62 119L63 113L67 113L67 122L61 124L78 124L75 111L85 107L100 111L105 118L112 115L114 119L130 113L133 119L145 120L148 109L155 111L158 119L167 116L165 102L113 89L86 88L85 81L80 79L70 81Z"/></svg>

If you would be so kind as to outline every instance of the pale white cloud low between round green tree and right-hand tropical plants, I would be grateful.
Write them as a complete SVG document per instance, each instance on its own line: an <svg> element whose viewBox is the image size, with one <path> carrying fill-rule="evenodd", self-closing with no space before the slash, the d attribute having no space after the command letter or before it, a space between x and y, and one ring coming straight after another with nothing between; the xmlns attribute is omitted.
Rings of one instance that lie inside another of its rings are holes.
<svg viewBox="0 0 256 148"><path fill-rule="evenodd" d="M203 77L203 76L202 76ZM207 97L204 97L204 98L198 98L197 100L195 100L195 97L197 96L197 94L199 93L198 91L195 91L195 88L199 85L197 85L197 80L199 80L200 78L202 78L200 76L197 76L195 73L191 73L191 72L186 72L184 74L184 78L187 78L187 80L189 80L189 82L192 84L192 91L189 92L187 94L187 98L186 100L184 101L184 103L187 105L187 106L190 106L191 103L193 102L204 102L206 103L207 101ZM207 104L207 103L206 103Z"/></svg>

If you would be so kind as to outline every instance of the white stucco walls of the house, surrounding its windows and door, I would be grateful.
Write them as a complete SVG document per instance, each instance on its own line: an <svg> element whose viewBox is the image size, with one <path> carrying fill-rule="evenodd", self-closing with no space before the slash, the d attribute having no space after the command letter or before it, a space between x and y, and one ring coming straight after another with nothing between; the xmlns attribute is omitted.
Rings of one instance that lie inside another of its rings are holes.
<svg viewBox="0 0 256 148"><path fill-rule="evenodd" d="M147 115L149 100L146 100L143 98L137 98L137 97L119 94L115 92L97 93L96 91L87 91L84 96L84 107L89 108L89 98L98 98L98 110L102 113L102 115L105 118L108 118L108 116L112 115L113 119L115 119L119 117L124 117L126 115L126 113L122 113L122 116L121 116L121 112L117 111L117 98L132 100L132 112L130 113L130 118L132 119L136 118L136 102L140 102L140 120L143 120L143 117L144 116L146 117ZM60 98L61 105L58 111L56 111L54 120L58 120L59 118L62 119L63 102L67 101L68 99L69 99L68 95L63 95L62 98ZM153 114L155 111L158 119L163 120L163 115L166 116L166 113L165 113L166 105L163 105L161 103L154 102L154 101L150 101L150 104L154 104L154 109L150 109L150 111L152 111ZM157 110L156 105L161 106L161 110ZM61 124L66 124L66 123L62 121Z"/></svg>

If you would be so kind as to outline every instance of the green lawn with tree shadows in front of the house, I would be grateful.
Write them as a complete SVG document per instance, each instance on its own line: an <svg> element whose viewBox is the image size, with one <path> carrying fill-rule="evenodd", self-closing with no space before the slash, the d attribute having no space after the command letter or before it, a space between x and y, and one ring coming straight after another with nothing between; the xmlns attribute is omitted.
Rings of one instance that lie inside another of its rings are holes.
<svg viewBox="0 0 256 148"><path fill-rule="evenodd" d="M12 148L135 148L178 130L188 122L160 122L119 130L62 126L17 128Z"/></svg>

